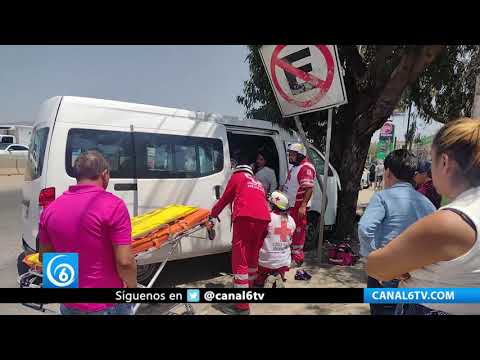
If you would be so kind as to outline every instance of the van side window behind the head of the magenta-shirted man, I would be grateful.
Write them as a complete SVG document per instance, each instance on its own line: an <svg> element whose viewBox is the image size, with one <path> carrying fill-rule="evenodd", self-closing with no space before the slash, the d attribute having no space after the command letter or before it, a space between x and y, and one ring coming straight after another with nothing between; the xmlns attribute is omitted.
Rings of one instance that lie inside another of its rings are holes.
<svg viewBox="0 0 480 360"><path fill-rule="evenodd" d="M133 146L129 132L70 129L65 156L65 168L69 176L75 177L75 160L88 150L97 150L107 159L111 178L133 178Z"/></svg>

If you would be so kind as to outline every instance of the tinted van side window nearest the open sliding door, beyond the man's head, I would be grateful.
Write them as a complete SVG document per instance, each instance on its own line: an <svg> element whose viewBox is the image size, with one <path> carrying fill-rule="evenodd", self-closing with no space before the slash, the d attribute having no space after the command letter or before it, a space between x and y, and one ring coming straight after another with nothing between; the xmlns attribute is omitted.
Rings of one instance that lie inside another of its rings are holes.
<svg viewBox="0 0 480 360"><path fill-rule="evenodd" d="M135 133L139 179L198 178L223 170L223 143L194 136Z"/></svg>

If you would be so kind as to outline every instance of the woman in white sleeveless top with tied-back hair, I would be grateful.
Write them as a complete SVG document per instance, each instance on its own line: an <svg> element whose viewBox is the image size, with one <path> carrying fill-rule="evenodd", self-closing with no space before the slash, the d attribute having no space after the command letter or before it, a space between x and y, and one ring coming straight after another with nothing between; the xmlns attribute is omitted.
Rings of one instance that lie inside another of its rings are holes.
<svg viewBox="0 0 480 360"><path fill-rule="evenodd" d="M480 119L445 125L432 144L432 178L451 202L370 253L367 273L400 287L480 287ZM480 304L403 304L398 314L480 314Z"/></svg>

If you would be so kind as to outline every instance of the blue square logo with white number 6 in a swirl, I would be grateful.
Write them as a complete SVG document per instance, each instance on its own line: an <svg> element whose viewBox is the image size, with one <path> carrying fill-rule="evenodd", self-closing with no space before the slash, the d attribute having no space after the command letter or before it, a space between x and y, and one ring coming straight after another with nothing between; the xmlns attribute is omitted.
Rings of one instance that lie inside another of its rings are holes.
<svg viewBox="0 0 480 360"><path fill-rule="evenodd" d="M78 288L78 254L43 254L44 288Z"/></svg>

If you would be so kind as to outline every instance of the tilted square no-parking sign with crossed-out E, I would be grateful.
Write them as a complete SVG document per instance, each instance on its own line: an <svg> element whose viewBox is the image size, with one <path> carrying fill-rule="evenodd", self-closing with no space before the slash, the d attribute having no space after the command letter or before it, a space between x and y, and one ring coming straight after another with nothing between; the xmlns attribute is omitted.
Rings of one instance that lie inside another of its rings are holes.
<svg viewBox="0 0 480 360"><path fill-rule="evenodd" d="M334 45L264 45L262 61L284 117L347 102Z"/></svg>

